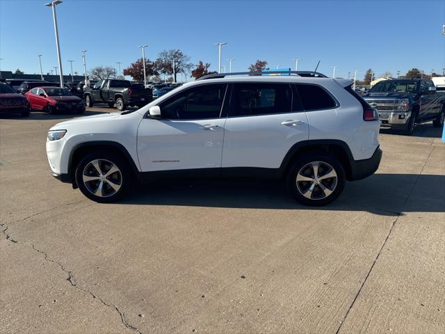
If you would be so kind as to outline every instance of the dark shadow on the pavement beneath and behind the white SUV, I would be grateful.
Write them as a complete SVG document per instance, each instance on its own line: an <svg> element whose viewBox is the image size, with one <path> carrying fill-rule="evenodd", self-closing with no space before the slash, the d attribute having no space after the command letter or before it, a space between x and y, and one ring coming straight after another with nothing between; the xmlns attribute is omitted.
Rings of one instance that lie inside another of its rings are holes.
<svg viewBox="0 0 445 334"><path fill-rule="evenodd" d="M419 197L419 200L407 202L410 194L411 198L415 196ZM282 182L261 181L154 182L133 189L120 204L323 209L398 216L401 212L444 212L444 200L444 175L375 174L364 180L347 182L343 194L330 205L323 207L300 205L288 195Z"/></svg>

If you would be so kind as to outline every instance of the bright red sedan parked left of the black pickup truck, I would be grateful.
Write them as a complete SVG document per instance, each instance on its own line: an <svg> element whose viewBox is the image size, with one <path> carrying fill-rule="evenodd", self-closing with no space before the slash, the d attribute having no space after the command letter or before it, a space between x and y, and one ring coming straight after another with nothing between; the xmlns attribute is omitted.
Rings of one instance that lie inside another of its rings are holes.
<svg viewBox="0 0 445 334"><path fill-rule="evenodd" d="M74 96L66 88L60 87L36 87L25 94L33 110L55 113L57 111L74 111L83 113L85 102L80 97Z"/></svg>

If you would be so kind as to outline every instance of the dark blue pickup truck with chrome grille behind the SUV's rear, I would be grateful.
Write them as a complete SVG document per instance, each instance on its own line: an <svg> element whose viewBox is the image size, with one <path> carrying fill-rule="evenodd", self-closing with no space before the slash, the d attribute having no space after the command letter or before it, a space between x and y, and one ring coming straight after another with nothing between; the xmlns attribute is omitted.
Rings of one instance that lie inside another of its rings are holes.
<svg viewBox="0 0 445 334"><path fill-rule="evenodd" d="M432 121L442 127L445 117L445 93L437 92L430 79L380 81L364 100L378 110L382 126L412 134L416 124Z"/></svg>

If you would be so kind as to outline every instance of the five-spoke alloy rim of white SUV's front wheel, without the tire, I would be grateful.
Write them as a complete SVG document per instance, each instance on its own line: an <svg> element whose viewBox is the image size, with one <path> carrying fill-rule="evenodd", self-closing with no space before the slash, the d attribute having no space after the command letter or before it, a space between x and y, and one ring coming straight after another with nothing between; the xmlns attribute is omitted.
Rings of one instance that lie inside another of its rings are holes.
<svg viewBox="0 0 445 334"><path fill-rule="evenodd" d="M122 186L122 173L118 166L106 159L95 159L83 168L82 181L95 196L115 195Z"/></svg>

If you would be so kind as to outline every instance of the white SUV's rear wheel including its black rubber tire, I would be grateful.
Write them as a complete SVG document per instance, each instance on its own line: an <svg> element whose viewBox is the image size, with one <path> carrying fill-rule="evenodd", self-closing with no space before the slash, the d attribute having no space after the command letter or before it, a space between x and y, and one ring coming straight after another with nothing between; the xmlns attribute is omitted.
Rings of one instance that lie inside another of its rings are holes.
<svg viewBox="0 0 445 334"><path fill-rule="evenodd" d="M314 177L314 166L312 164L316 165L318 169L316 177ZM329 177L329 175L332 176ZM323 179L325 176L328 177ZM301 180L302 178L307 180ZM323 152L305 154L296 159L289 166L286 177L286 186L289 193L298 202L310 206L327 205L332 202L340 196L345 183L346 175L343 166L335 157Z"/></svg>

